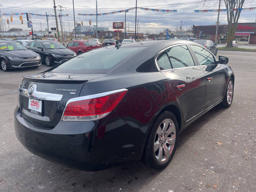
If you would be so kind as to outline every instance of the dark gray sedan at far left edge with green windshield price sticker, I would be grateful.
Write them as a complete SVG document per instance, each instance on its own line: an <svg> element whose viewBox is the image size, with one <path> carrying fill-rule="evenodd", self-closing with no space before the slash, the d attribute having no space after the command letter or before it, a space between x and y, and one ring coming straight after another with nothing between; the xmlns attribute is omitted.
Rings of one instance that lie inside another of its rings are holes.
<svg viewBox="0 0 256 192"><path fill-rule="evenodd" d="M4 71L14 68L38 67L41 65L39 54L12 41L0 42L1 68Z"/></svg>

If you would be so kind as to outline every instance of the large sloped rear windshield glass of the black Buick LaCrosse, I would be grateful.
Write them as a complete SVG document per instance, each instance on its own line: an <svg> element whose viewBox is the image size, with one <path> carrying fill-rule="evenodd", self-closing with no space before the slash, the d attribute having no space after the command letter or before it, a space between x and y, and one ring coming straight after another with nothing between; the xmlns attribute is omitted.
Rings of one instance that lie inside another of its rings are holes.
<svg viewBox="0 0 256 192"><path fill-rule="evenodd" d="M80 54L61 64L52 72L108 73L115 65L131 57L138 47L100 48Z"/></svg>

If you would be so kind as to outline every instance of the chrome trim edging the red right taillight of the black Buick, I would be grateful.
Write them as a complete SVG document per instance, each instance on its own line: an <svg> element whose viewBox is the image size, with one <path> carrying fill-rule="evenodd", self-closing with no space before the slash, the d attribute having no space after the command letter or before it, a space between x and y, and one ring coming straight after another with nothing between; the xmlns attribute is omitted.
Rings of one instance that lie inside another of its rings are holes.
<svg viewBox="0 0 256 192"><path fill-rule="evenodd" d="M96 93L96 94L93 94L93 95L86 95L86 96L81 96L81 97L75 97L75 98L71 98L67 101L66 105L65 105L65 108L62 112L62 116L60 118L60 121L71 121L71 120L63 120L63 116L64 116L64 113L65 113L65 110L66 108L68 107L68 104L71 103L71 102L74 102L74 101L81 101L81 100L88 100L88 99L95 99L95 98L98 98L98 97L104 97L104 96L108 96L108 95L111 95L111 94L114 94L114 93L119 93L119 92L123 92L123 91L128 91L127 89L117 89L117 90L113 90L113 91L108 91L108 92L102 92L102 93ZM111 111L110 111L111 112ZM90 120L82 120L82 121L94 121L94 120L98 120L98 119L101 119L105 116L107 116L110 112L108 113L105 113L104 116L100 116L99 118L95 118L95 119L90 119ZM78 121L78 120L76 120Z"/></svg>

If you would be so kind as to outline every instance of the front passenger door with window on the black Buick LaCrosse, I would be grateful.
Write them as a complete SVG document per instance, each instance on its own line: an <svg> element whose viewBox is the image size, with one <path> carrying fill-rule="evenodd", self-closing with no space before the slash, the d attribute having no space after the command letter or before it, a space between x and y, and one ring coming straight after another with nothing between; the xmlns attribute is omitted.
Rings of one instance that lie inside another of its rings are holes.
<svg viewBox="0 0 256 192"><path fill-rule="evenodd" d="M204 71L206 80L205 108L210 107L222 100L225 90L225 69L218 64L215 57L204 47L190 45L193 50L197 63Z"/></svg>

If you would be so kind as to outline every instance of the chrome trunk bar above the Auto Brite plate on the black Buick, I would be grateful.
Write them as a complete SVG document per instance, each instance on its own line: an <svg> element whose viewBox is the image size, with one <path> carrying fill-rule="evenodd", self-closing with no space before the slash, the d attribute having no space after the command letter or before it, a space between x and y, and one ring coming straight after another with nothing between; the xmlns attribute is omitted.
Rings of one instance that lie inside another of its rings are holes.
<svg viewBox="0 0 256 192"><path fill-rule="evenodd" d="M36 99L36 100L48 100L48 101L60 101L63 97L61 94L55 94L55 93L46 93L46 92L39 92L36 91L36 84L34 84L35 88L32 93L32 95L28 96L28 90L19 87L19 94L21 94L24 97L28 97L31 99Z"/></svg>

